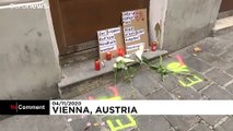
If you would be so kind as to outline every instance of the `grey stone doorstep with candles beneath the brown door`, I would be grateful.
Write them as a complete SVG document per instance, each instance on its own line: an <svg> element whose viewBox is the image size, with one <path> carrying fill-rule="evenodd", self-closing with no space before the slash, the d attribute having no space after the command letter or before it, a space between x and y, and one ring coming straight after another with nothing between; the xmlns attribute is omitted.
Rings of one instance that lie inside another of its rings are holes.
<svg viewBox="0 0 233 131"><path fill-rule="evenodd" d="M149 60L166 55L166 50L147 51L143 53ZM62 80L58 83L61 98L72 98L88 93L103 85L114 83L113 64L115 59L105 62L101 71L94 70L94 59L84 60L65 67L62 69Z"/></svg>

